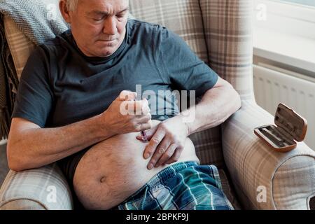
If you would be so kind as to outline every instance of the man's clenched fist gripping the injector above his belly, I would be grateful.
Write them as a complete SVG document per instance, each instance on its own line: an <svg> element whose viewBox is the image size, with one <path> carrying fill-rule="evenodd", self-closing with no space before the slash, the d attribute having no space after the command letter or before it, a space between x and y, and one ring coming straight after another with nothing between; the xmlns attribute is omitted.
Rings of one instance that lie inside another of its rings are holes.
<svg viewBox="0 0 315 224"><path fill-rule="evenodd" d="M125 134L151 129L151 113L148 100L137 101L137 92L124 90L101 115L109 132Z"/></svg>

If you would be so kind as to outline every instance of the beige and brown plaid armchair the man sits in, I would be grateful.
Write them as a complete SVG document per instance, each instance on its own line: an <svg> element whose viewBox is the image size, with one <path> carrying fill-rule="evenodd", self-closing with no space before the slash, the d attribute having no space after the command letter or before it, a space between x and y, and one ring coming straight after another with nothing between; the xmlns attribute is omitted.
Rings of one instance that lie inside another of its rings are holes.
<svg viewBox="0 0 315 224"><path fill-rule="evenodd" d="M253 133L254 127L272 124L274 117L255 103L253 93L252 1L131 0L130 10L135 18L182 36L239 92L239 111L222 125L190 136L202 164L218 167L223 191L235 209L314 209L314 151L301 142L293 151L276 153ZM10 18L5 27L20 74L34 43ZM52 164L10 170L0 190L0 209L73 209L73 203L62 172Z"/></svg>

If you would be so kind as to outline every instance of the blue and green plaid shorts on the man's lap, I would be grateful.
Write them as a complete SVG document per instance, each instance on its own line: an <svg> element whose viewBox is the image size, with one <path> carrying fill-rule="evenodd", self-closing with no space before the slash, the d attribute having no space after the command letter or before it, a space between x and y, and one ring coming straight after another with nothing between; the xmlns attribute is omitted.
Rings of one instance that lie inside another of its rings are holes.
<svg viewBox="0 0 315 224"><path fill-rule="evenodd" d="M214 165L179 162L163 169L125 202L120 210L232 210Z"/></svg>

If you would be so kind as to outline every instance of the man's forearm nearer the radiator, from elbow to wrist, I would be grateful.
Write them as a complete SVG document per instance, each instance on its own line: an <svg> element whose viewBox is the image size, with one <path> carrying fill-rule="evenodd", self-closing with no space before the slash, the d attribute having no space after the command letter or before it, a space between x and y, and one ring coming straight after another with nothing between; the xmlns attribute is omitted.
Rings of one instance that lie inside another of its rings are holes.
<svg viewBox="0 0 315 224"><path fill-rule="evenodd" d="M208 90L199 104L188 109L190 113L195 113L193 122L186 123L188 135L221 125L240 107L241 99L232 85L214 87ZM185 114L188 111L184 111ZM185 117L183 112L180 116Z"/></svg>

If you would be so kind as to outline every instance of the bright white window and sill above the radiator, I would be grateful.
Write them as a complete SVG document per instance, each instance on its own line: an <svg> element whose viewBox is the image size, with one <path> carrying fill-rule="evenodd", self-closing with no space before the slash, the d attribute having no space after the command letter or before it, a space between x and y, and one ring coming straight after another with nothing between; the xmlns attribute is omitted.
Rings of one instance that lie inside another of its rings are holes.
<svg viewBox="0 0 315 224"><path fill-rule="evenodd" d="M254 0L254 11L254 55L314 76L315 0Z"/></svg>

